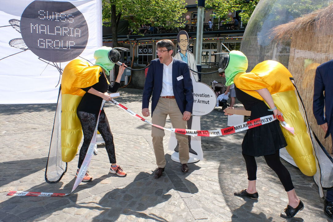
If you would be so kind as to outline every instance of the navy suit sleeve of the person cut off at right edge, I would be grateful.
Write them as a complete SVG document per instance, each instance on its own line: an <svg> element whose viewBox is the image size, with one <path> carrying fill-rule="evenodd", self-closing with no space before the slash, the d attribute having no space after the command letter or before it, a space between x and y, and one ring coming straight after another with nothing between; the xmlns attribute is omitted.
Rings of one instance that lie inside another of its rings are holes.
<svg viewBox="0 0 333 222"><path fill-rule="evenodd" d="M316 75L314 77L314 88L313 88L313 104L312 110L313 115L317 120L318 125L322 125L326 122L324 117L324 94L325 91L323 79L319 69L316 69Z"/></svg>

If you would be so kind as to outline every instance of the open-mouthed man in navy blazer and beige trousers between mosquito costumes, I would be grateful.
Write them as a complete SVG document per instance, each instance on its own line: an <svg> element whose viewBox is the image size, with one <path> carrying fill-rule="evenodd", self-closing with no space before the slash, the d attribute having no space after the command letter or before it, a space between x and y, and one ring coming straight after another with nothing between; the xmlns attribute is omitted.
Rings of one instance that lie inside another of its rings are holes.
<svg viewBox="0 0 333 222"><path fill-rule="evenodd" d="M186 121L190 118L193 107L193 85L187 63L172 58L174 44L164 39L157 42L158 59L152 60L147 72L144 92L142 96L142 114L149 116L149 100L152 97L152 122L165 126L166 116L169 115L174 128L186 128ZM163 129L152 126L153 146L158 168L155 178L159 178L164 171L166 159L164 155ZM179 143L179 160L181 171L188 171L187 135L176 133Z"/></svg>

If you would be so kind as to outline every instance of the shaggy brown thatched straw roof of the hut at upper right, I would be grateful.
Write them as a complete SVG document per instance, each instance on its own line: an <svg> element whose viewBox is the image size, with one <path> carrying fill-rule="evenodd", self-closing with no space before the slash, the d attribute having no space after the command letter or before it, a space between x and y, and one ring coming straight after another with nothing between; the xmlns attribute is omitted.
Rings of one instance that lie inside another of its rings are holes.
<svg viewBox="0 0 333 222"><path fill-rule="evenodd" d="M297 33L301 30L311 30L309 33L313 32L313 28L325 27L330 24L330 28L333 23L333 4L327 6L326 8L319 9L317 11L306 14L295 20L292 20L286 24L282 24L272 28L271 34L275 36L275 39L286 39L291 37L292 34Z"/></svg>

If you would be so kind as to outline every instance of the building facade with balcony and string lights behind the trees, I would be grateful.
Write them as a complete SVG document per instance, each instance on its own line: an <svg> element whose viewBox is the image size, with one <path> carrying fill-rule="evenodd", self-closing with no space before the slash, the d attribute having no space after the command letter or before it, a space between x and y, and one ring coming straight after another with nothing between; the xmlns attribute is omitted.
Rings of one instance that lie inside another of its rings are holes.
<svg viewBox="0 0 333 222"><path fill-rule="evenodd" d="M131 31L127 35L118 35L118 46L128 48L128 51L121 51L121 62L133 68L143 68L151 60L157 58L156 42L161 39L170 39L175 43L174 55L177 53L177 34L180 30L185 30L189 36L188 50L195 55L196 47L196 22L197 5L195 0L187 0L187 12L183 14L185 26L183 28L165 29L163 27L153 27L147 25L140 29L142 35L133 35ZM211 72L218 69L220 54L231 50L239 50L240 43L245 31L245 26L238 16L238 12L230 12L226 17L238 18L238 24L232 21L212 16L212 9L204 10L204 31L202 40L201 68L202 72ZM211 19L211 24L208 23ZM229 19L230 20L230 19ZM124 28L122 28L124 29ZM103 27L103 45L112 47L111 31ZM198 63L198 58L195 58ZM133 61L133 65L132 65ZM132 71L131 81L128 85L133 88L143 88L145 72ZM139 76L143 76L139 77ZM210 84L216 78L202 76L201 82ZM112 80L111 80L112 81ZM134 83L136 82L136 83ZM218 81L219 82L219 81ZM127 84L127 83L126 83Z"/></svg>

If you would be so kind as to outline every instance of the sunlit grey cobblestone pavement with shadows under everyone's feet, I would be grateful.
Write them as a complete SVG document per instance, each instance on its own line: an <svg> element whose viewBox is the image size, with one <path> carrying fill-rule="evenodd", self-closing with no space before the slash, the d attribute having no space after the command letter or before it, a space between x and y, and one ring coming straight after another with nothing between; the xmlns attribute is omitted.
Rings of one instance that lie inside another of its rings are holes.
<svg viewBox="0 0 333 222"><path fill-rule="evenodd" d="M121 89L116 100L141 114L142 90ZM68 163L67 173L55 184L44 180L55 104L0 105L0 220L1 221L286 221L280 212L288 199L276 174L262 157L258 165L258 201L244 200L233 193L246 188L247 174L241 155L244 133L202 137L204 160L189 164L184 174L170 159L155 179L156 168L151 126L107 103L116 144L117 163L127 172L124 178L109 173L106 150L99 146L89 173L93 181L81 183L66 197L7 196L12 191L69 193L73 187L78 155ZM150 120L150 118L148 118ZM202 129L226 127L220 108L201 118ZM167 121L170 127L170 121ZM282 160L289 170L297 195L305 207L288 221L329 221L323 200L312 177Z"/></svg>

